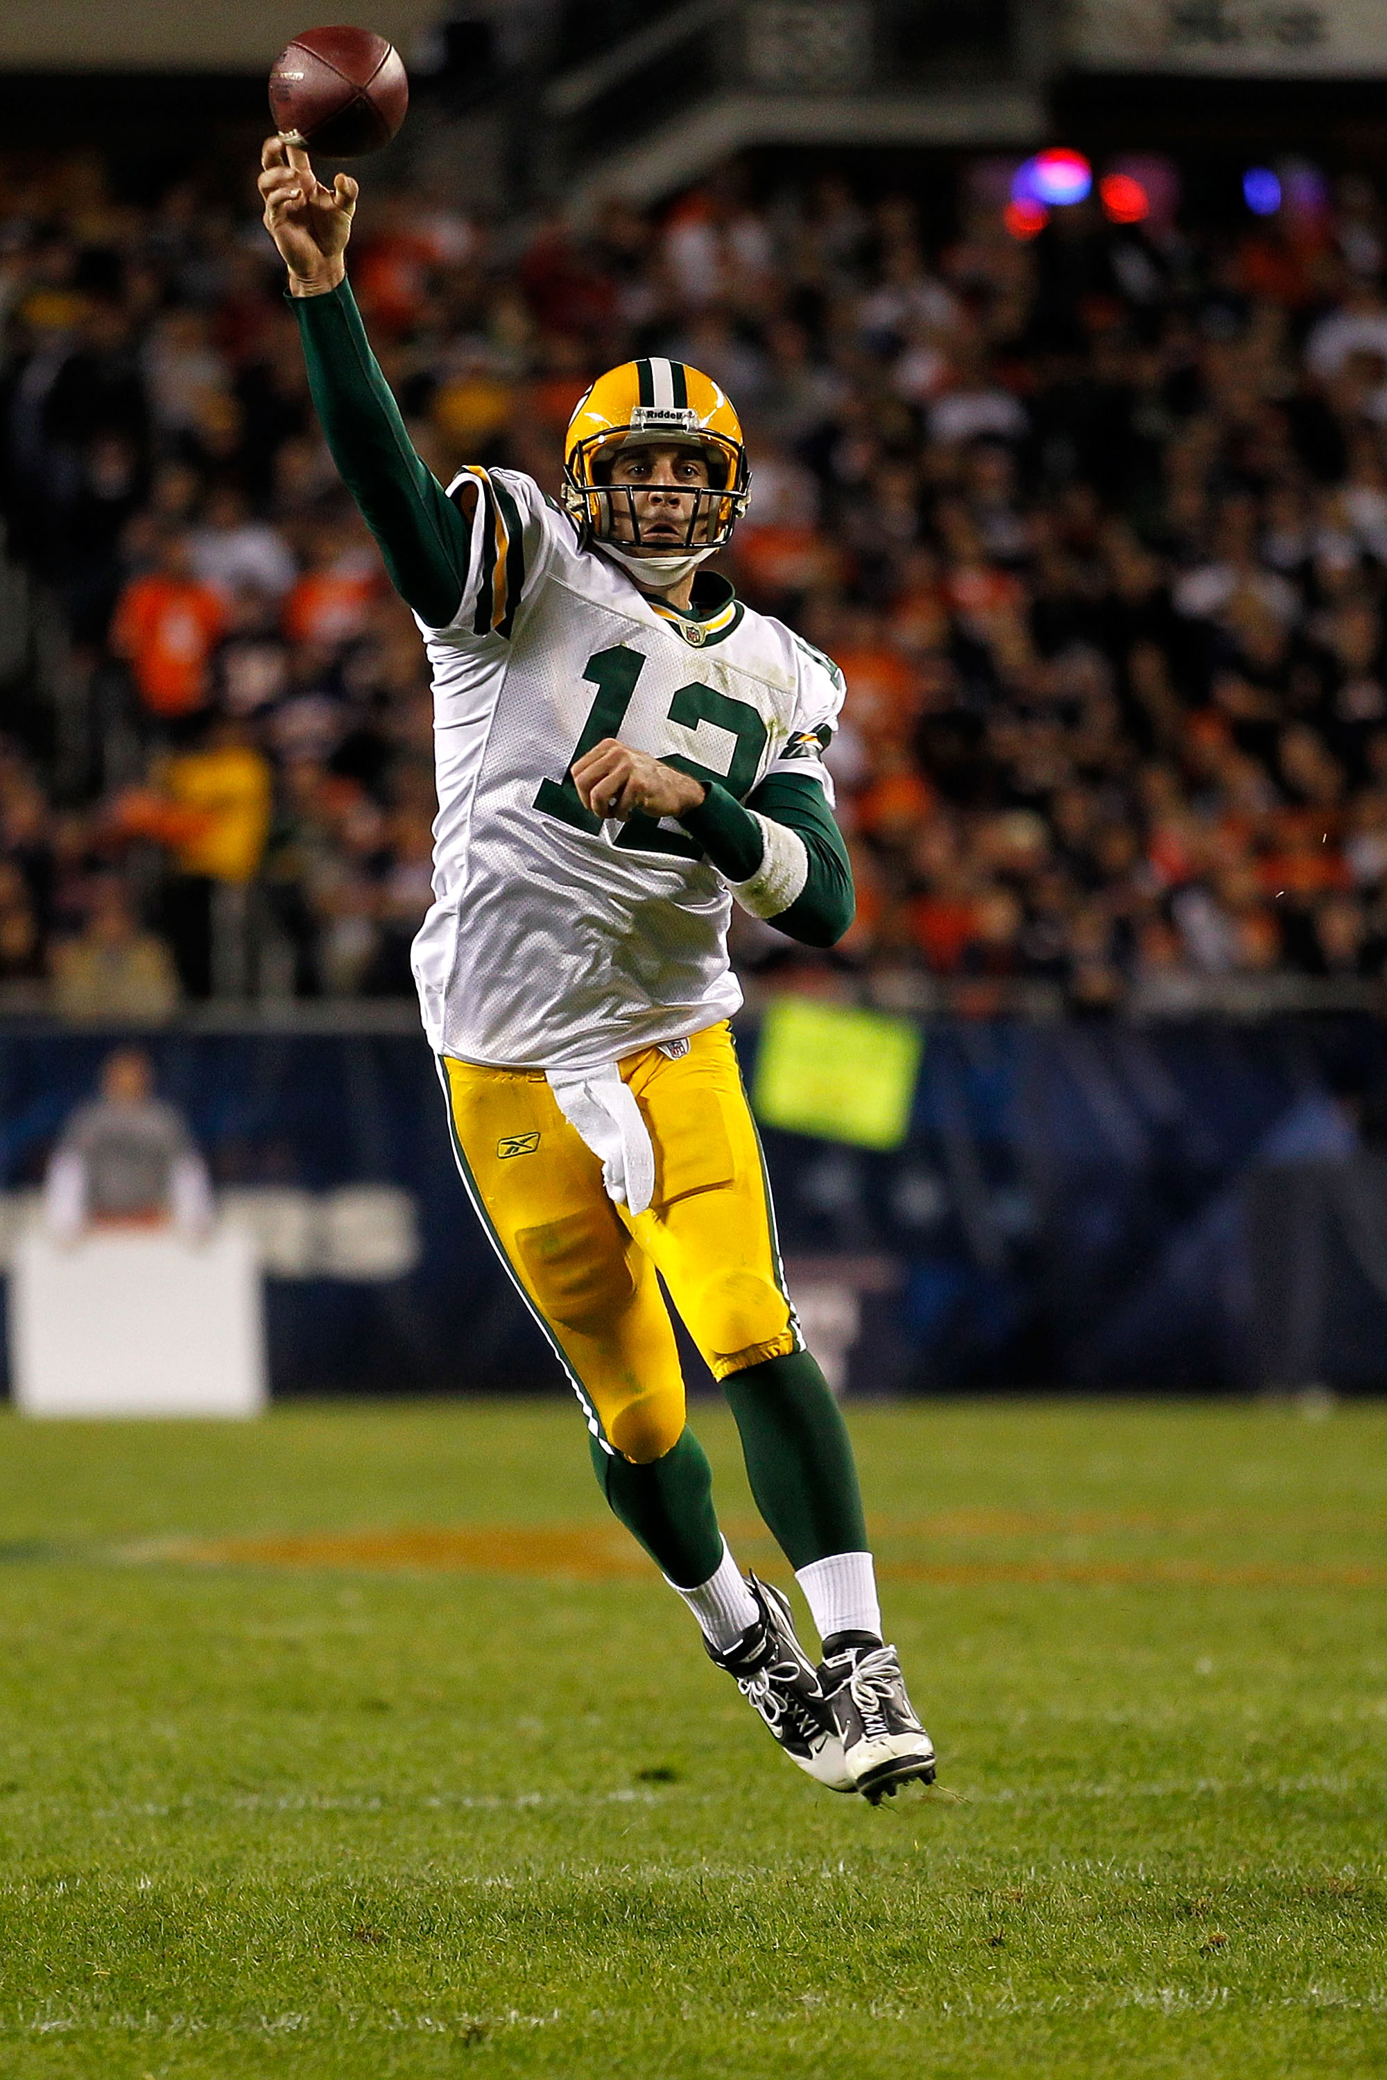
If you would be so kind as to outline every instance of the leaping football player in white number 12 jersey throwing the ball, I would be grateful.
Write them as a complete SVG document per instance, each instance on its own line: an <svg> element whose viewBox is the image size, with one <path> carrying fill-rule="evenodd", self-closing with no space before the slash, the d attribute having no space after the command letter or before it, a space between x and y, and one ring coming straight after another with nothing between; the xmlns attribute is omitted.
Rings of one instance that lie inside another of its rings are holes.
<svg viewBox="0 0 1387 2080"><path fill-rule="evenodd" d="M747 505L736 412L682 362L628 362L572 416L561 505L514 470L443 491L347 285L356 181L322 185L270 137L260 193L333 458L433 668L414 976L468 1196L572 1381L607 1502L786 1753L871 1801L930 1783L728 1028L734 901L815 946L853 919L823 770L842 678L703 570ZM819 1664L717 1527L661 1279L732 1404Z"/></svg>

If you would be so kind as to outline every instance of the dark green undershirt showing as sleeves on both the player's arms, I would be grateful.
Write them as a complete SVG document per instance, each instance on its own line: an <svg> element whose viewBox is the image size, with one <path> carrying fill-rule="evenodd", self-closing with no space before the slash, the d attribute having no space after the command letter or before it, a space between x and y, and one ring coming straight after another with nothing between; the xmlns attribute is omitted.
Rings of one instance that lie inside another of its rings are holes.
<svg viewBox="0 0 1387 2080"><path fill-rule="evenodd" d="M289 302L299 320L308 389L341 480L399 597L430 628L445 628L468 576L468 522L414 451L351 287L343 281L326 295ZM680 822L732 882L751 880L761 865L765 840L751 809L794 830L809 853L805 888L769 921L807 946L836 944L853 921L853 869L823 788L809 776L774 774L742 807L724 786L709 786L707 801Z"/></svg>

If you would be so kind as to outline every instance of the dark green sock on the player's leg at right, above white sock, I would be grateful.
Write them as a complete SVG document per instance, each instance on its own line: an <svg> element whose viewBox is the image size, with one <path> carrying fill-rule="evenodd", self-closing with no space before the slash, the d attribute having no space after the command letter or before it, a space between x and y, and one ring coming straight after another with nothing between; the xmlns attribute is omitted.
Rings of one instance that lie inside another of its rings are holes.
<svg viewBox="0 0 1387 2080"><path fill-rule="evenodd" d="M807 1350L722 1383L757 1508L790 1566L867 1552L848 1427Z"/></svg>

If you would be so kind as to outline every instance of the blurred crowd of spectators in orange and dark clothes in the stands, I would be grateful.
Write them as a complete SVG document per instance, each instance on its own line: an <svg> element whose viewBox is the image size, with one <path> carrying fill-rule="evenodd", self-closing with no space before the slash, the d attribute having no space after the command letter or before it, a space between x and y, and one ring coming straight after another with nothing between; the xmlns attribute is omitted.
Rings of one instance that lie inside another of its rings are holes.
<svg viewBox="0 0 1387 2080"><path fill-rule="evenodd" d="M135 208L94 160L0 164L0 510L62 630L0 740L0 1003L410 990L424 655L318 437L252 175ZM1004 181L963 166L927 241L911 196L838 177L524 235L366 177L351 272L445 480L553 491L586 379L632 354L732 395L728 572L842 666L859 884L834 955L738 919L742 967L898 1000L1036 978L1092 1013L1377 976L1379 202L1302 179L1200 225L1156 164L1127 220L1038 229Z"/></svg>

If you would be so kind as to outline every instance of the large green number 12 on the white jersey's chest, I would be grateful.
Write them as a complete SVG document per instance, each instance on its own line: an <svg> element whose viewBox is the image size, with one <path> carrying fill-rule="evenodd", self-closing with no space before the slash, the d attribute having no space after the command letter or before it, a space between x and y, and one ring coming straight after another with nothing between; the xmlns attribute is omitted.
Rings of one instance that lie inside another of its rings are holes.
<svg viewBox="0 0 1387 2080"><path fill-rule="evenodd" d="M545 815L557 815L559 822L572 824L574 830L586 830L591 836L601 832L601 817L584 809L578 799L572 768L595 745L601 745L605 736L620 732L645 666L645 653L628 649L626 643L588 657L582 676L588 684L597 686L597 699L588 707L582 736L574 745L568 761L570 770L561 780L541 780L539 784L534 807L543 809ZM711 722L736 738L736 749L726 774L709 772L707 765L699 765L697 759L686 759L678 751L661 755L663 765L674 765L692 780L705 780L707 784L715 780L730 795L736 795L738 801L751 792L761 765L761 753L765 751L765 724L751 701L734 701L730 695L717 693L715 686L680 686L670 699L668 718L688 730L697 730L701 722ZM616 842L628 853L674 853L678 859L703 857L695 840L684 836L682 830L661 830L655 817L645 815L640 809L626 820Z"/></svg>

